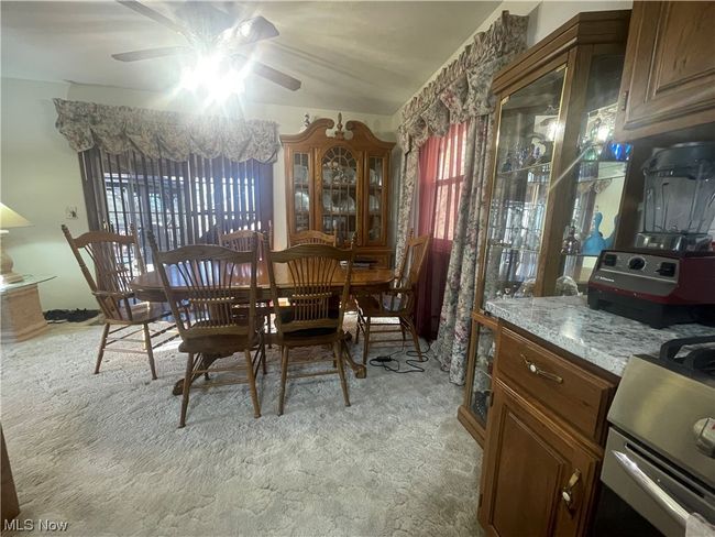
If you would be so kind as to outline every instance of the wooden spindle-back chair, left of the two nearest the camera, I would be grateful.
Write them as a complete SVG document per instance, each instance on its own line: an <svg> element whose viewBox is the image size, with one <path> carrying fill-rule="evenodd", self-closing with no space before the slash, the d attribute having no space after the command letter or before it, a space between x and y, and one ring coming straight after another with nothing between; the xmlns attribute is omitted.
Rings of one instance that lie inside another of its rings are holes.
<svg viewBox="0 0 715 537"><path fill-rule="evenodd" d="M182 337L179 352L187 353L179 427L186 425L191 384L201 375L206 379L201 387L248 383L253 415L261 417L255 379L261 366L265 374L265 347L263 330L256 324L257 248L237 252L215 244L198 244L160 252L152 233L148 239ZM251 282L248 288L243 284L246 277ZM240 352L245 363L212 366L218 359ZM229 372L245 373L245 376L219 376L213 381L209 376L209 373Z"/></svg>

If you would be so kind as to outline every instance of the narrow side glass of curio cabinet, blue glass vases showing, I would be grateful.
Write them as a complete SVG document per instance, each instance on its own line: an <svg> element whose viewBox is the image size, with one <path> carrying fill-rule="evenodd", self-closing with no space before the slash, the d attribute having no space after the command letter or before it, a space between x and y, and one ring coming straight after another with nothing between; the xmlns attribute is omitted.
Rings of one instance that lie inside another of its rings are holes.
<svg viewBox="0 0 715 537"><path fill-rule="evenodd" d="M630 145L614 140L624 55L592 59L579 134L571 222L564 230L557 294L584 292L604 249L614 246Z"/></svg>

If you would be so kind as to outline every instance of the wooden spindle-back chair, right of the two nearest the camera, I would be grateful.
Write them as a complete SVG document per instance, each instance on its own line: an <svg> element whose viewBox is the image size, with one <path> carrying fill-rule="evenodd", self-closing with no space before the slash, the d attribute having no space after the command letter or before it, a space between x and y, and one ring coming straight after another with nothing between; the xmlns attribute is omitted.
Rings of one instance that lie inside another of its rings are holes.
<svg viewBox="0 0 715 537"><path fill-rule="evenodd" d="M275 309L277 343L282 347L278 415L283 414L288 365L332 362L332 369L301 371L290 379L337 373L345 406L350 406L343 364L345 332L343 316L350 295L355 251L326 244L298 244L287 250L267 250L268 280ZM293 283L285 305L278 304L276 266L284 265ZM290 361L290 351L302 347L329 346L332 357Z"/></svg>

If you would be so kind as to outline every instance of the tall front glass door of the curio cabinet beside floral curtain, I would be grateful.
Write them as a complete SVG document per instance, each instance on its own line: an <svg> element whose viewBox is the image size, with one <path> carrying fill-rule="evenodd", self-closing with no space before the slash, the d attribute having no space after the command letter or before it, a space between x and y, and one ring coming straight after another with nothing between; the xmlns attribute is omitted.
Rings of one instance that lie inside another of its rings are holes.
<svg viewBox="0 0 715 537"><path fill-rule="evenodd" d="M536 284L564 79L562 67L502 101L482 306Z"/></svg>

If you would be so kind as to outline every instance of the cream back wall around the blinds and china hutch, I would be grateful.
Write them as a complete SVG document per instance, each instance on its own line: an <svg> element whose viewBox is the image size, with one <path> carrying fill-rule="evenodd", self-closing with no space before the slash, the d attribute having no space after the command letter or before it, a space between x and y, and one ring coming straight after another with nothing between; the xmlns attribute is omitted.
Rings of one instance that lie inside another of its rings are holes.
<svg viewBox="0 0 715 537"><path fill-rule="evenodd" d="M55 129L54 97L124 105L160 110L196 112L189 99L168 99L160 94L103 86L2 79L2 144L0 199L34 223L12 230L3 244L24 274L57 277L40 286L43 309L96 308L77 263L59 230L66 223L73 234L87 230L87 216L77 154ZM216 111L213 111L216 112ZM238 114L239 110L224 110ZM248 119L278 122L280 133L296 133L305 113L337 119L338 111L277 105L248 105ZM351 113L343 123L359 120L378 138L394 141L389 116ZM274 167L274 230L276 248L286 244L285 174L283 151ZM66 207L77 207L78 219L68 220Z"/></svg>

